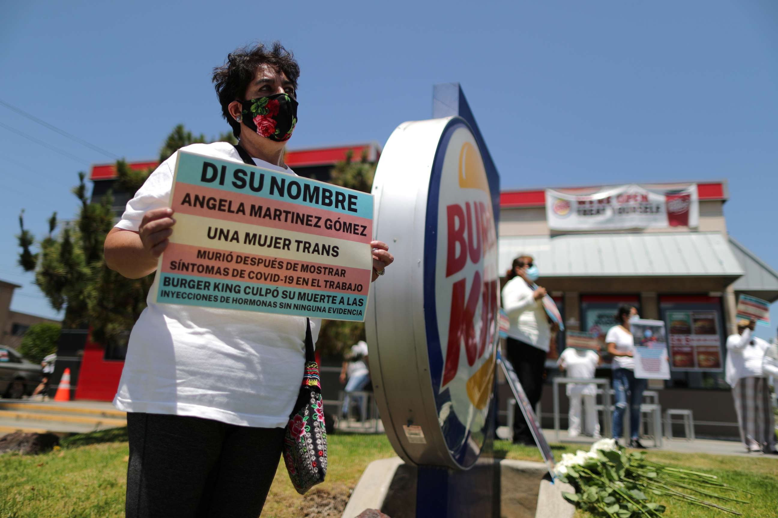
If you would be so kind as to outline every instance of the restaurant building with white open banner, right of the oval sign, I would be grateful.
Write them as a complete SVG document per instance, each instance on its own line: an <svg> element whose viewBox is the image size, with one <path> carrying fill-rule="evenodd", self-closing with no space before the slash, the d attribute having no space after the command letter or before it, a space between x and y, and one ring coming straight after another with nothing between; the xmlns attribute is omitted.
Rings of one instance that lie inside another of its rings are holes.
<svg viewBox="0 0 778 518"><path fill-rule="evenodd" d="M604 335L619 304L665 322L671 379L649 381L663 411L691 409L697 435L737 436L724 382L725 341L735 332L740 294L773 302L778 273L727 231L727 183L700 182L503 191L499 271L520 254L534 257L566 329ZM565 347L558 333L548 379ZM607 354L605 355L607 356ZM609 377L604 359L598 377ZM552 426L552 385L541 400ZM562 402L562 426L566 398Z"/></svg>

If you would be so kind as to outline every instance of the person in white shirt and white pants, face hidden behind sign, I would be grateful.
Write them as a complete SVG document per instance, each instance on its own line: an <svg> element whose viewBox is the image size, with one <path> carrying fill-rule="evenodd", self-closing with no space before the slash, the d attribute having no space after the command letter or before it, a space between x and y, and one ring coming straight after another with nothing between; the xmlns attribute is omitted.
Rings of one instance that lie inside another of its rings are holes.
<svg viewBox="0 0 778 518"><path fill-rule="evenodd" d="M559 355L556 364L559 370L566 370L567 377L591 379L600 363L600 355L592 349L575 349L568 347ZM600 421L597 417L597 386L594 383L568 383L566 388L569 399L567 433L573 438L581 433L581 400L586 408L584 433L594 438L600 438Z"/></svg>

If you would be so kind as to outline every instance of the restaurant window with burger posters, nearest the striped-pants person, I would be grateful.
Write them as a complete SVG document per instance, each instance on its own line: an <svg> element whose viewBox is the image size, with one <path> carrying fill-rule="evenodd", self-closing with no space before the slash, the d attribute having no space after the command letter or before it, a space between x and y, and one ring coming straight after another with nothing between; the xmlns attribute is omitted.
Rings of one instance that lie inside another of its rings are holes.
<svg viewBox="0 0 778 518"><path fill-rule="evenodd" d="M726 347L720 297L664 295L660 318L668 330L668 388L728 388L724 381Z"/></svg>

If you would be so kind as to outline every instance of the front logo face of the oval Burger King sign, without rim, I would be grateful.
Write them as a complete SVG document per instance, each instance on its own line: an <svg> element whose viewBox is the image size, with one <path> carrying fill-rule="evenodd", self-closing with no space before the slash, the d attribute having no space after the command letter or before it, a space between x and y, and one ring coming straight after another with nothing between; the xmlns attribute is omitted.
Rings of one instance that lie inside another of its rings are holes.
<svg viewBox="0 0 778 518"><path fill-rule="evenodd" d="M436 308L427 348L441 427L452 457L475 461L482 440L499 339L497 235L483 159L466 123L453 120L433 164L427 206L425 301ZM445 144L445 145L444 145ZM428 248L429 247L429 248ZM426 315L430 318L431 315ZM470 450L468 450L470 448Z"/></svg>

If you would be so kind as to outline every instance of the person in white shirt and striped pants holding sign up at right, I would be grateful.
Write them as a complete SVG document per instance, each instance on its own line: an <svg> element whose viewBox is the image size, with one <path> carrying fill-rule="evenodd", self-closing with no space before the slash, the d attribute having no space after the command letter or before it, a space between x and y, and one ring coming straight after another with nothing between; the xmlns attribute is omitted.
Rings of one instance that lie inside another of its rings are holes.
<svg viewBox="0 0 778 518"><path fill-rule="evenodd" d="M769 344L753 336L755 320L738 321L738 334L727 337L725 379L732 388L740 437L751 453L776 453L775 422L762 363Z"/></svg>

